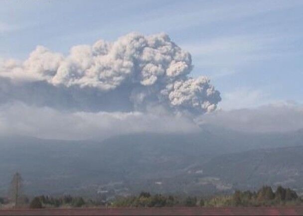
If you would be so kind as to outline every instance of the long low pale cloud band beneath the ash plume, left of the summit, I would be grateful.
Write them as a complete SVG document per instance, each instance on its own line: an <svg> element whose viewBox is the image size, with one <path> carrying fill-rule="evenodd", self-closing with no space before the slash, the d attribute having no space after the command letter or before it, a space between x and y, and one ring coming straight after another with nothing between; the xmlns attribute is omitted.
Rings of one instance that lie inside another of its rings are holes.
<svg viewBox="0 0 303 216"><path fill-rule="evenodd" d="M191 118L163 109L143 112L65 112L12 103L0 106L0 134L51 139L106 138L134 132L194 132Z"/></svg>

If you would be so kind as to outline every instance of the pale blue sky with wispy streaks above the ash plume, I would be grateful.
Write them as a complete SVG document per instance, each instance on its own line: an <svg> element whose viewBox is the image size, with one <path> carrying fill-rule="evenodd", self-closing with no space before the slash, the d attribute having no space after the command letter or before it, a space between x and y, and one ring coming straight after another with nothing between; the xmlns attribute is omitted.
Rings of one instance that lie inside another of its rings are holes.
<svg viewBox="0 0 303 216"><path fill-rule="evenodd" d="M303 103L303 1L0 1L0 57L25 59L36 45L76 44L128 32L167 33L192 54L225 109Z"/></svg>

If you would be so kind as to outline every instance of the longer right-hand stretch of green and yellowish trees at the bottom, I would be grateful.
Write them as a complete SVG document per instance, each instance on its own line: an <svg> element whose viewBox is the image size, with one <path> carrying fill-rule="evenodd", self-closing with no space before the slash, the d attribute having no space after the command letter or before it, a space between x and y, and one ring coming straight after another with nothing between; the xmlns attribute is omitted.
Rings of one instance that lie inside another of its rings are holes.
<svg viewBox="0 0 303 216"><path fill-rule="evenodd" d="M151 195L143 192L139 196L121 197L112 202L113 207L258 207L279 205L302 205L303 200L289 188L279 186L274 192L264 186L257 192L235 191L233 195L214 196L211 198L174 197Z"/></svg>

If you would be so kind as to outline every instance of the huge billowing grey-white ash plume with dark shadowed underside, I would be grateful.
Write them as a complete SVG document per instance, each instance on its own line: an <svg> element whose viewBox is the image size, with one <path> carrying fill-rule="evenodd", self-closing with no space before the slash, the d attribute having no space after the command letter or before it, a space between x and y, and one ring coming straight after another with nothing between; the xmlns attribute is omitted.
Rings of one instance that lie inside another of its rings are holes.
<svg viewBox="0 0 303 216"><path fill-rule="evenodd" d="M0 103L89 111L163 106L204 113L220 94L206 77L189 77L191 56L166 34L130 33L114 42L78 45L69 55L43 46L23 62L0 60Z"/></svg>

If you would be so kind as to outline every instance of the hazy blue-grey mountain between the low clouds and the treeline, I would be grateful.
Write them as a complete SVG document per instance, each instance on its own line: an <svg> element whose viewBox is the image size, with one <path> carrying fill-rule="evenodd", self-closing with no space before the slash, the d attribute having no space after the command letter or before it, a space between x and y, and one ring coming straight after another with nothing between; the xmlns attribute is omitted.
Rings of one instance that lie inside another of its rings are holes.
<svg viewBox="0 0 303 216"><path fill-rule="evenodd" d="M27 194L210 194L283 185L303 192L303 130L139 133L103 141L0 137L0 196L20 172Z"/></svg>

